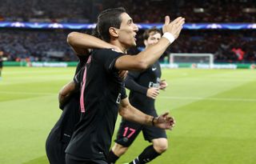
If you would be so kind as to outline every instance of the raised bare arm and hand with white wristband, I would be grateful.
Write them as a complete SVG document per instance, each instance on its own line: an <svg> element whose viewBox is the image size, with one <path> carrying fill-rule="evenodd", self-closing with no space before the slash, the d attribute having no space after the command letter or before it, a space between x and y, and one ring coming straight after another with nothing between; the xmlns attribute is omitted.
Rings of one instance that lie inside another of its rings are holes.
<svg viewBox="0 0 256 164"><path fill-rule="evenodd" d="M185 19L182 17L170 22L170 18L166 16L165 24L162 26L164 34L157 44L149 46L137 55L123 55L116 60L114 66L118 70L145 70L154 64L167 47L178 38L184 23Z"/></svg>

